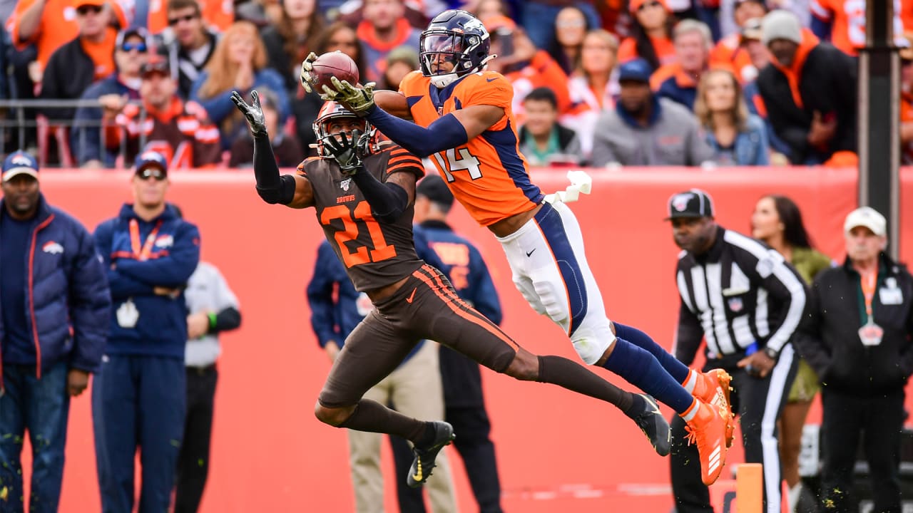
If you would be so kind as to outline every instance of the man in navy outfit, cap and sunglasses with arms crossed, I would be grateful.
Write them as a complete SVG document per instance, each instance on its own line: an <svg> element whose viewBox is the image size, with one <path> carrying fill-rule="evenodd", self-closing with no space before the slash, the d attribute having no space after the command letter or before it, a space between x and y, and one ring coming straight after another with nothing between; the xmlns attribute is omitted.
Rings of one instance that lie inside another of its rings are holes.
<svg viewBox="0 0 913 513"><path fill-rule="evenodd" d="M113 300L108 349L92 388L101 508L133 508L140 446L140 512L167 511L184 432L184 287L200 260L200 233L165 203L168 166L142 152L133 204L95 231Z"/></svg>

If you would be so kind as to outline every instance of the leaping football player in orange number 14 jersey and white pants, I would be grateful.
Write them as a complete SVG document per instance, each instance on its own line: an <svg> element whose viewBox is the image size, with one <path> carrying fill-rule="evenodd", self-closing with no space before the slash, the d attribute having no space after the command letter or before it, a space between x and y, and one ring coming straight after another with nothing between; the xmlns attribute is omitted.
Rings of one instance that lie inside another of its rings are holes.
<svg viewBox="0 0 913 513"><path fill-rule="evenodd" d="M513 89L485 69L496 57L488 55L489 45L481 21L448 10L422 33L421 71L407 75L398 93L335 78L333 89L324 86L322 93L410 152L431 157L456 199L498 237L514 283L532 308L565 330L583 361L672 406L698 444L704 482L713 483L731 443L729 375L692 371L644 332L606 318L571 209L544 201L530 182L517 149ZM309 91L317 83L315 59L302 63L301 83Z"/></svg>

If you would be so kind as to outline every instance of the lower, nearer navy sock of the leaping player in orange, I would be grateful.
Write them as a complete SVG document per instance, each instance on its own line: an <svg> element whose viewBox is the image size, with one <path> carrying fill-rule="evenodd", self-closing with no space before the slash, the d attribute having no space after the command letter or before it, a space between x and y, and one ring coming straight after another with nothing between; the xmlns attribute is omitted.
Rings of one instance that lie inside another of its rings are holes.
<svg viewBox="0 0 913 513"><path fill-rule="evenodd" d="M668 404L677 414L684 414L694 403L694 397L663 369L650 352L621 337L615 340L612 354L603 367Z"/></svg>

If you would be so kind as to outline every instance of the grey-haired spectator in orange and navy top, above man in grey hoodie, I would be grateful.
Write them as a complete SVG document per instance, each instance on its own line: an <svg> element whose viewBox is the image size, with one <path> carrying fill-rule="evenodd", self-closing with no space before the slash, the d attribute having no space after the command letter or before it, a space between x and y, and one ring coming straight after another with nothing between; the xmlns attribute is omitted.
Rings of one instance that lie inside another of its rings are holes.
<svg viewBox="0 0 913 513"><path fill-rule="evenodd" d="M691 110L698 96L700 76L709 66L713 39L710 28L693 19L680 21L673 32L677 62L656 70L650 85L656 90L656 96L671 99Z"/></svg>

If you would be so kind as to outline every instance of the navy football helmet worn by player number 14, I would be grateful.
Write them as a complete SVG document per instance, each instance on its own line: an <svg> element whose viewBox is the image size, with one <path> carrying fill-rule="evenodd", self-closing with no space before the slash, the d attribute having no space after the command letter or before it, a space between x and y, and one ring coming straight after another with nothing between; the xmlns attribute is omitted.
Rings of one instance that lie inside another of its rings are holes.
<svg viewBox="0 0 913 513"><path fill-rule="evenodd" d="M460 77L480 71L488 62L491 40L481 20L460 9L435 16L419 43L422 74L443 88ZM441 68L443 63L453 68Z"/></svg>

